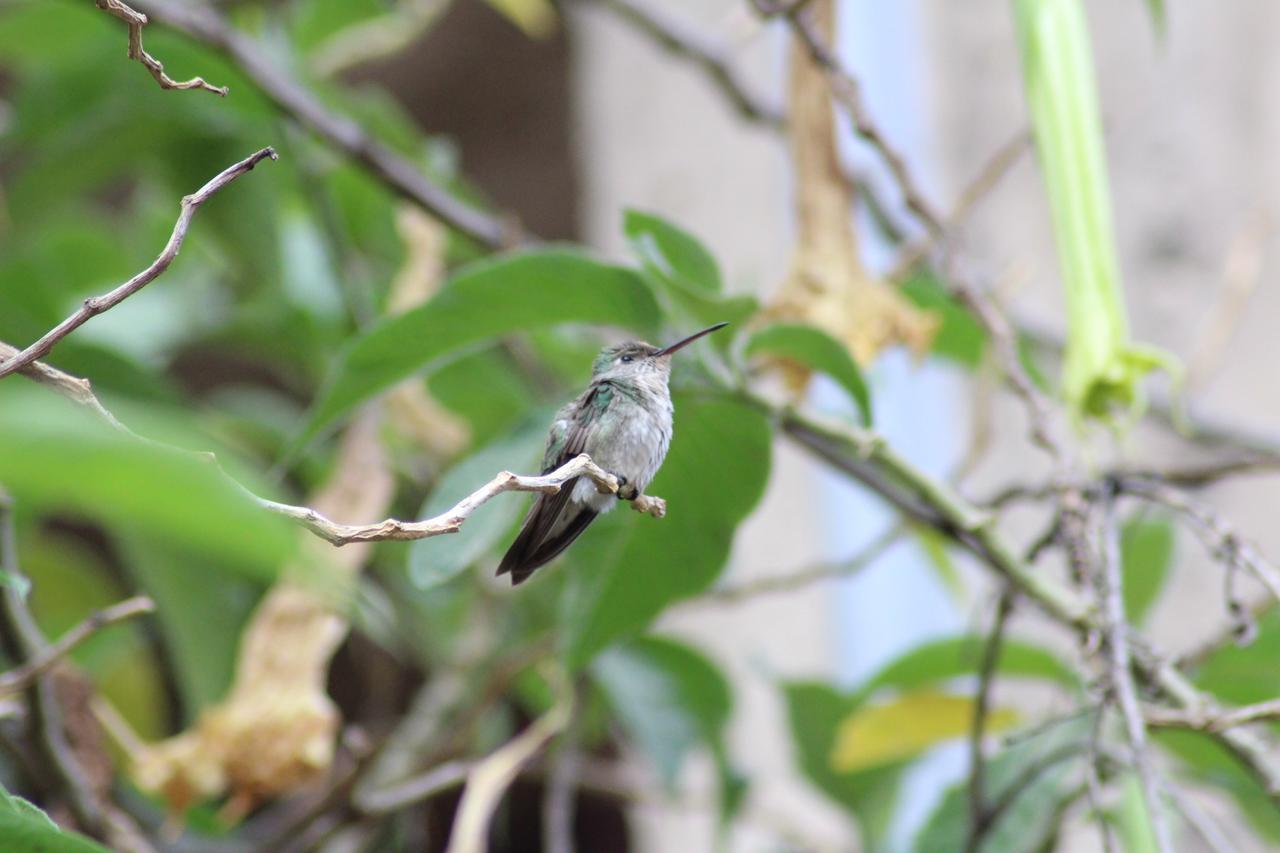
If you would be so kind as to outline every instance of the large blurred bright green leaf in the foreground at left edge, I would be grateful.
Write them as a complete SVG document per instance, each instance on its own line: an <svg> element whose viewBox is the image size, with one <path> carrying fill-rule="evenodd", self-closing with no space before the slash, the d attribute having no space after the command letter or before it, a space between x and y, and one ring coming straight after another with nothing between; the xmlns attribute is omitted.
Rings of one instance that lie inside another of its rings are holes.
<svg viewBox="0 0 1280 853"><path fill-rule="evenodd" d="M0 386L0 483L23 505L145 530L260 576L274 576L293 552L296 528L259 507L212 464L125 435L20 382ZM152 418L147 432L179 428Z"/></svg>

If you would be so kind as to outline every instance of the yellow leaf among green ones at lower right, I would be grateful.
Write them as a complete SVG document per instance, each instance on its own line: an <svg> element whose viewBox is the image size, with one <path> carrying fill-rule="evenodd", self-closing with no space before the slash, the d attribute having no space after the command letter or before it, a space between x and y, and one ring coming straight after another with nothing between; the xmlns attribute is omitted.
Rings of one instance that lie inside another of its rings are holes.
<svg viewBox="0 0 1280 853"><path fill-rule="evenodd" d="M851 774L910 758L943 740L969 734L973 699L937 690L904 693L881 704L863 706L840 724L831 767ZM1018 721L1011 708L987 713L987 731Z"/></svg>

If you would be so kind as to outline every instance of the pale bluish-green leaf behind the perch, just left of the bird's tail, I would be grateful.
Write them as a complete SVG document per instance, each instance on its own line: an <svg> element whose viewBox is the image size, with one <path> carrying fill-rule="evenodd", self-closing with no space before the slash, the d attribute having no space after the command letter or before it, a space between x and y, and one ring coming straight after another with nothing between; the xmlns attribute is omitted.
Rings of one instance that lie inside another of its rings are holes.
<svg viewBox="0 0 1280 853"><path fill-rule="evenodd" d="M509 435L451 467L422 503L417 517L430 519L444 512L492 480L498 471L536 474L548 420L547 412L531 418ZM499 494L472 512L457 533L413 542L408 549L408 571L413 585L430 589L457 576L507 535L525 505L520 496Z"/></svg>

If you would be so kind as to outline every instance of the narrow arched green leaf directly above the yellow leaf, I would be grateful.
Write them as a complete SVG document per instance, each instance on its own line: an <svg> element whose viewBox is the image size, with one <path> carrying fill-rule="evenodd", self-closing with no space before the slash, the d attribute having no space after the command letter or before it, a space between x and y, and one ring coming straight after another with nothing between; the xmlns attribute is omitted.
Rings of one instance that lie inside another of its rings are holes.
<svg viewBox="0 0 1280 853"><path fill-rule="evenodd" d="M916 646L870 676L854 694L858 702L877 690L918 690L965 675L975 675L982 666L987 638L961 634ZM1059 657L1033 643L1006 638L1000 647L996 671L1004 676L1043 679L1066 688L1079 685L1075 671Z"/></svg>

